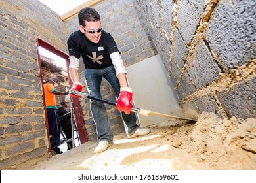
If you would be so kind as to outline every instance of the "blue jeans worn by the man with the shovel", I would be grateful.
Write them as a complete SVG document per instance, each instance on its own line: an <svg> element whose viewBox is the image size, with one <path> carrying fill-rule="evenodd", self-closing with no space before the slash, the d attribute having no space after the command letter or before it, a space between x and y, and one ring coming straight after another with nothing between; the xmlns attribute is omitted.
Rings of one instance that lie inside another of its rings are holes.
<svg viewBox="0 0 256 183"><path fill-rule="evenodd" d="M117 98L120 93L120 84L116 77L114 66L106 67L104 69L85 69L85 83L87 85L89 95L102 97L100 93L102 78L105 78L110 83ZM113 133L104 103L90 99L90 108L93 121L96 125L98 141L105 140L112 144ZM132 135L136 129L139 128L136 124L137 117L135 112L131 112L129 115L121 112L121 117L125 125L126 133L128 135Z"/></svg>

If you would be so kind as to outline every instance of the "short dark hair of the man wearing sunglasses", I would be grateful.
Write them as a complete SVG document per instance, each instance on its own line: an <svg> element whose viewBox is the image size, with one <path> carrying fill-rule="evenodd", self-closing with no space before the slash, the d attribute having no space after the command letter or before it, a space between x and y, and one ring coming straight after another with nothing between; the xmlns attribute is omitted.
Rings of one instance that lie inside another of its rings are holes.
<svg viewBox="0 0 256 183"><path fill-rule="evenodd" d="M100 21L100 14L98 14L98 12L94 8L85 7L79 11L78 21L79 21L79 24L84 27L85 21L88 21L88 22Z"/></svg>

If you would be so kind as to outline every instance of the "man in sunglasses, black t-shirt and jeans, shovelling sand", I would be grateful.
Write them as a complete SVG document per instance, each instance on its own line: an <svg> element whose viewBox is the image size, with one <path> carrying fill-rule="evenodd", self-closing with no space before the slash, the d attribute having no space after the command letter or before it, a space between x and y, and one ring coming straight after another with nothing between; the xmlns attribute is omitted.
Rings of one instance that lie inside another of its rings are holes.
<svg viewBox="0 0 256 183"><path fill-rule="evenodd" d="M70 76L74 82L72 90L81 92L79 82L79 58L85 65L85 84L90 95L102 97L100 85L105 78L114 89L117 98L116 108L121 112L125 131L129 138L146 135L150 129L142 129L136 124L136 115L131 112L132 89L127 84L125 67L116 42L110 33L102 29L100 15L95 9L85 7L79 11L79 30L68 38L70 54ZM71 97L78 97L70 94ZM113 144L113 133L106 108L99 101L90 101L91 114L96 124L98 146L95 154L103 152Z"/></svg>

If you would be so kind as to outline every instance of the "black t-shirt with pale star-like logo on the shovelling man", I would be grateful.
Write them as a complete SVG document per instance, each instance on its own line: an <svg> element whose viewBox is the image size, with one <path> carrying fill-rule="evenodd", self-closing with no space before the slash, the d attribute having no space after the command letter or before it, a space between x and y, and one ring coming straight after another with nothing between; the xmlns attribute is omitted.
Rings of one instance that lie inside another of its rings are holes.
<svg viewBox="0 0 256 183"><path fill-rule="evenodd" d="M82 56L85 67L90 69L103 69L112 65L110 54L119 52L113 37L104 30L98 44L89 41L81 31L75 31L68 38L68 51L70 56L77 59Z"/></svg>

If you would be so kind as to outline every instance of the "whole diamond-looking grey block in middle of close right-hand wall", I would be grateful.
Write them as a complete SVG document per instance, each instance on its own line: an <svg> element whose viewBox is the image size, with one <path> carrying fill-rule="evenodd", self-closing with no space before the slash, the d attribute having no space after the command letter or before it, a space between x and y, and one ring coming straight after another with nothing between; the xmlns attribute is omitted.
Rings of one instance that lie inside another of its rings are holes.
<svg viewBox="0 0 256 183"><path fill-rule="evenodd" d="M192 54L187 71L198 90L211 84L219 77L221 69L202 40L198 42L196 50Z"/></svg>

